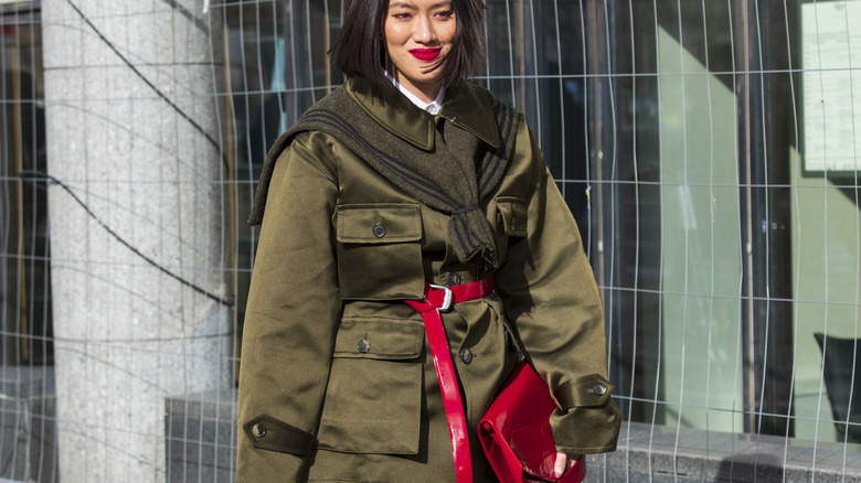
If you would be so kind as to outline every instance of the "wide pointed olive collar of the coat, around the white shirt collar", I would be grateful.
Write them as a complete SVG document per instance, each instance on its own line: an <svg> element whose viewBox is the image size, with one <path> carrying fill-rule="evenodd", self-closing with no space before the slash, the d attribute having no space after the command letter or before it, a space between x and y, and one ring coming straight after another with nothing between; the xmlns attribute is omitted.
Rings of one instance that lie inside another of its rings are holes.
<svg viewBox="0 0 861 483"><path fill-rule="evenodd" d="M434 149L436 117L499 148L499 128L488 96L469 83L446 89L443 109L437 116L419 109L398 92L383 92L362 77L352 77L347 92L376 122L418 149Z"/></svg>

